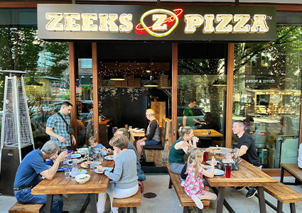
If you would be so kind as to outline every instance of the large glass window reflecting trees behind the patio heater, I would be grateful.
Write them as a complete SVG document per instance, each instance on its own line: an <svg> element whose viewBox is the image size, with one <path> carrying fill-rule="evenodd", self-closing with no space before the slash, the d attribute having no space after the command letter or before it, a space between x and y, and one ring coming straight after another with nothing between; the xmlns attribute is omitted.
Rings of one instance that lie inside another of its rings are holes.
<svg viewBox="0 0 302 213"><path fill-rule="evenodd" d="M39 40L36 27L0 28L0 70L28 72L23 79L35 148L50 139L45 133L47 119L62 102L70 101L68 56L68 43ZM0 83L2 108L4 75Z"/></svg>

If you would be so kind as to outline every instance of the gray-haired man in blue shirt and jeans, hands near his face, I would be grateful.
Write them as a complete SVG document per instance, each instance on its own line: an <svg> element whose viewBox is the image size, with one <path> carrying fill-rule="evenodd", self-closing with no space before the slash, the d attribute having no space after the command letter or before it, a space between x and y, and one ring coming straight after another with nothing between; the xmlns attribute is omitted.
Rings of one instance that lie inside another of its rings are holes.
<svg viewBox="0 0 302 213"><path fill-rule="evenodd" d="M53 179L58 170L60 160L66 158L65 151L58 155L60 147L54 141L48 141L42 149L31 151L22 160L18 167L14 182L14 194L18 202L21 203L46 203L47 195L31 195L31 190L41 181L41 175L47 180ZM55 160L53 166L48 168L44 160ZM63 212L63 197L55 195L53 197L53 213Z"/></svg>

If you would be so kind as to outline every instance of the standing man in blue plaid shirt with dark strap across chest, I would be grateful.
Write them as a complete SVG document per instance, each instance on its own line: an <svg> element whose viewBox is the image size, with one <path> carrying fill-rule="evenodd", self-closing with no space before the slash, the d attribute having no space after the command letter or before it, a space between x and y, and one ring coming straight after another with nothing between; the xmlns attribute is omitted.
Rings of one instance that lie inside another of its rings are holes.
<svg viewBox="0 0 302 213"><path fill-rule="evenodd" d="M59 146L66 146L71 149L71 143L75 146L75 136L70 126L70 114L72 104L63 102L60 111L49 117L46 124L46 133L50 136L51 141L55 141Z"/></svg>

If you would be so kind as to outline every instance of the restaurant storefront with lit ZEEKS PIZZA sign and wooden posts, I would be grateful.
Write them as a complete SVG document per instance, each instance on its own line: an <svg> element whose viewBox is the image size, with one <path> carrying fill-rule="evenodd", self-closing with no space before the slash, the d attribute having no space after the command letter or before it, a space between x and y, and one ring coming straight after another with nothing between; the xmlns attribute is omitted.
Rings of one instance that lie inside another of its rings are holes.
<svg viewBox="0 0 302 213"><path fill-rule="evenodd" d="M20 58L13 68L30 71L26 92L39 143L48 138L45 121L64 100L77 106L72 126L85 144L92 135L102 142L102 117L111 120L107 126L146 128L144 111L155 97L171 119L168 145L183 126L184 108L195 100L195 119L205 121L210 114L213 124L207 129L221 133L202 137L202 146L235 147L232 121L245 119L264 167L279 168L280 162L296 158L301 141L301 4L66 1L39 4L37 11L38 1L21 2L0 1L1 10L15 17L6 21L16 23L1 25L6 35L1 40L31 35L31 41L18 43L27 47L31 42L28 48L38 53L33 54L37 65ZM4 56L9 58L1 52ZM144 87L150 77L157 88Z"/></svg>

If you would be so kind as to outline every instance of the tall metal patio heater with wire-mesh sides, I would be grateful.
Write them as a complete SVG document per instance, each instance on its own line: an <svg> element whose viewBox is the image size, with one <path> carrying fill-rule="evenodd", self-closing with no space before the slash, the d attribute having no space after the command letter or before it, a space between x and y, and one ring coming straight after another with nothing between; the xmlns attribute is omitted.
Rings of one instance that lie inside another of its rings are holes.
<svg viewBox="0 0 302 213"><path fill-rule="evenodd" d="M2 70L6 74L1 126L1 192L14 195L14 180L18 165L33 151L33 133L28 114L23 74L19 70Z"/></svg>

